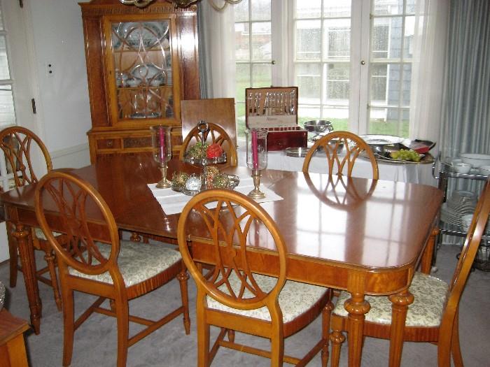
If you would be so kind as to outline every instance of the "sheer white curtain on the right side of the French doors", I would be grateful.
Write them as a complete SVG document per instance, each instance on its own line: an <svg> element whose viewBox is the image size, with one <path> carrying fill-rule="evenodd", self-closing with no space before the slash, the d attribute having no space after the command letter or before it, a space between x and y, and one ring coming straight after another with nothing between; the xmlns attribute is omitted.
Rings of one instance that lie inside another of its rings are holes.
<svg viewBox="0 0 490 367"><path fill-rule="evenodd" d="M448 13L447 0L416 1L410 138L440 138Z"/></svg>

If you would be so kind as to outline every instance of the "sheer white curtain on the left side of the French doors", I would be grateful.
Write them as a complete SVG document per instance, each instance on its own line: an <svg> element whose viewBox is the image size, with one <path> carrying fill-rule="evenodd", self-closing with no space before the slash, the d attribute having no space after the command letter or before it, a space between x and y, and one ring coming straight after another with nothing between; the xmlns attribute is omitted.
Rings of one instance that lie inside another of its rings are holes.
<svg viewBox="0 0 490 367"><path fill-rule="evenodd" d="M201 73L203 93L207 98L235 97L235 23L233 6L216 11L209 1L200 2L200 32L204 45L200 47L204 61Z"/></svg>

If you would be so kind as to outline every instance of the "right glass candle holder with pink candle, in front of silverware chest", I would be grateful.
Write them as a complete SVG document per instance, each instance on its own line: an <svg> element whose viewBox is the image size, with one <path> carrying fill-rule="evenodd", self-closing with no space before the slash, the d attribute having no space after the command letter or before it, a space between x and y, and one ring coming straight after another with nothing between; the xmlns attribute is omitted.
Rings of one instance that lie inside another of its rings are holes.
<svg viewBox="0 0 490 367"><path fill-rule="evenodd" d="M260 191L260 171L267 168L267 130L248 129L246 134L246 165L252 170L253 190L248 193L253 199L265 198Z"/></svg>

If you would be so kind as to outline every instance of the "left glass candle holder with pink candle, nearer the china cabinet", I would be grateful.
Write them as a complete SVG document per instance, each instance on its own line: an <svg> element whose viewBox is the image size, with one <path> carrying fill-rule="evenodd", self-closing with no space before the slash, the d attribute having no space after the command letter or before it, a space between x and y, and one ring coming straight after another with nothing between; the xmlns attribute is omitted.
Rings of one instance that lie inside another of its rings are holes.
<svg viewBox="0 0 490 367"><path fill-rule="evenodd" d="M158 182L159 189L170 187L170 181L167 180L167 162L172 159L172 139L170 136L171 127L157 125L151 129L151 145L153 147L153 159L158 164L162 172L162 180Z"/></svg>

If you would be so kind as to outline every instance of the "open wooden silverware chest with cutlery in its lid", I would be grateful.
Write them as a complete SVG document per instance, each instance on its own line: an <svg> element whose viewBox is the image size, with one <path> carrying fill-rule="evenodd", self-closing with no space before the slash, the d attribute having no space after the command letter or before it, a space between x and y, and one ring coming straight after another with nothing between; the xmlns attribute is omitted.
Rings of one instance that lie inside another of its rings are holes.
<svg viewBox="0 0 490 367"><path fill-rule="evenodd" d="M267 129L267 150L306 147L307 131L297 124L297 87L245 89L246 127Z"/></svg>

